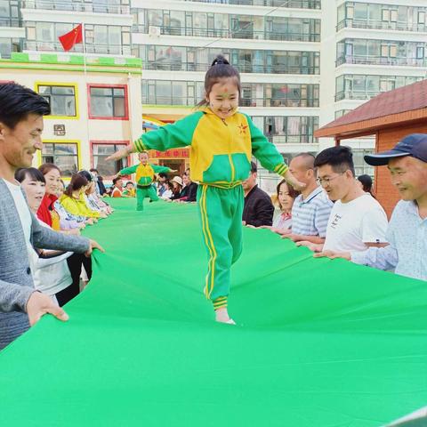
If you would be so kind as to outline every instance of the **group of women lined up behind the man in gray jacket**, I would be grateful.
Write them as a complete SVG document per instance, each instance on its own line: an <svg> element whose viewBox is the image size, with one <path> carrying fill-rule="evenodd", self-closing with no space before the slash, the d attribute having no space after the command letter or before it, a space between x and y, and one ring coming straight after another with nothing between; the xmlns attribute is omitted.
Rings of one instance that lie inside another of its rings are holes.
<svg viewBox="0 0 427 427"><path fill-rule="evenodd" d="M44 228L68 235L107 218L113 209L99 192L96 176L88 171L74 173L68 185L60 168L45 163L38 169L20 168L16 181L27 197L28 206ZM81 291L92 277L91 258L84 254L52 251L36 247L33 277L35 287L61 307Z"/></svg>

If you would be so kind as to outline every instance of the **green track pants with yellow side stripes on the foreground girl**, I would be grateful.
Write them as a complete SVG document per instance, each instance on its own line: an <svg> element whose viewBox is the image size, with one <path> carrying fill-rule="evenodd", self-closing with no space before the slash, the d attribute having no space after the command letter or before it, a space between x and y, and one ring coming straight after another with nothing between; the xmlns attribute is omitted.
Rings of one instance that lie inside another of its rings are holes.
<svg viewBox="0 0 427 427"><path fill-rule="evenodd" d="M230 268L242 253L243 188L199 185L197 205L208 255L205 296L216 310L227 307Z"/></svg>

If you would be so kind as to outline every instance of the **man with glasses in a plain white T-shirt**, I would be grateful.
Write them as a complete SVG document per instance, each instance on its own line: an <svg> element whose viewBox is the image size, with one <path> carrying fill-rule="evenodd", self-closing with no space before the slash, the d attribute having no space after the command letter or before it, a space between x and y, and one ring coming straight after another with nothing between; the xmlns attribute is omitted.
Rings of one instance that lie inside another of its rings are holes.
<svg viewBox="0 0 427 427"><path fill-rule="evenodd" d="M351 149L342 146L324 149L314 165L318 168L318 182L328 197L336 201L327 223L325 244L309 243L310 249L365 251L372 246L386 246L387 215L375 198L360 188Z"/></svg>

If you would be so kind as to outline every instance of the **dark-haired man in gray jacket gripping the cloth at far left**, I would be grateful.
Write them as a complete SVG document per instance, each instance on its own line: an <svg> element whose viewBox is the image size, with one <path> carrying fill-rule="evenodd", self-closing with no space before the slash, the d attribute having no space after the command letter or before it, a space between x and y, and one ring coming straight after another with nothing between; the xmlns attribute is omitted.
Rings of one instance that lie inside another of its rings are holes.
<svg viewBox="0 0 427 427"><path fill-rule="evenodd" d="M73 251L90 256L98 243L41 227L30 213L16 169L31 166L42 149L47 101L14 83L0 85L0 349L23 334L46 313L60 320L68 315L34 288L34 247Z"/></svg>

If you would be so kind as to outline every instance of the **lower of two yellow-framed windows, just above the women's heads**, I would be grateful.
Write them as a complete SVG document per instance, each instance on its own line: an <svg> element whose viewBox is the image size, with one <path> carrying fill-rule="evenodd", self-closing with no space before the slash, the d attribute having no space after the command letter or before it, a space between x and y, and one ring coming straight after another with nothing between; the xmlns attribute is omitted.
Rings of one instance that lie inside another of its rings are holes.
<svg viewBox="0 0 427 427"><path fill-rule="evenodd" d="M52 163L60 168L62 176L69 177L79 169L77 142L44 142L42 163Z"/></svg>

